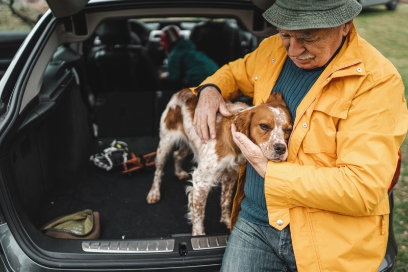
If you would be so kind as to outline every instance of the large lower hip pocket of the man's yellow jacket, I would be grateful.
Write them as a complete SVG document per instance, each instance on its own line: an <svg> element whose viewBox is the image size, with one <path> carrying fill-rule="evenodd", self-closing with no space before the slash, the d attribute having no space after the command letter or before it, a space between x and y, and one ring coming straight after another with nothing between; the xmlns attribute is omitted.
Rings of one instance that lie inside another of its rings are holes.
<svg viewBox="0 0 408 272"><path fill-rule="evenodd" d="M377 271L388 237L388 228L382 233L381 215L355 217L317 210L307 214L322 271Z"/></svg>

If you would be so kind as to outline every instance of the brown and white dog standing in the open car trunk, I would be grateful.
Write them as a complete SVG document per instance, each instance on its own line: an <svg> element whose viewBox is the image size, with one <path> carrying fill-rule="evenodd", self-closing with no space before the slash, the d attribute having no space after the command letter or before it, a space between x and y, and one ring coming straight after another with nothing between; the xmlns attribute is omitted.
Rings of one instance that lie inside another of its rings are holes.
<svg viewBox="0 0 408 272"><path fill-rule="evenodd" d="M189 174L182 169L183 159L192 151L197 168L192 172L192 186L188 186L188 219L192 235L204 235L203 221L210 189L221 182L221 221L230 228L231 202L235 182L245 158L233 141L231 125L247 135L261 147L264 155L272 161L283 161L288 156L287 143L292 132L289 110L280 93L273 93L269 100L250 107L245 103L231 103L225 100L233 114L226 118L217 114L217 138L202 143L193 127L197 97L189 90L182 90L172 96L160 120L160 142L156 155L156 172L148 203L160 200L160 184L163 168L172 148L175 175L186 179Z"/></svg>

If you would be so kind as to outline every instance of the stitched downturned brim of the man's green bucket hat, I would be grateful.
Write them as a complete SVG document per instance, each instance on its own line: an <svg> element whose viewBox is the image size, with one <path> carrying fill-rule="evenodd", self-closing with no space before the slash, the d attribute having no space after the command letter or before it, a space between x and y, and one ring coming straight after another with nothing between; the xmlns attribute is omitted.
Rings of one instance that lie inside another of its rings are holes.
<svg viewBox="0 0 408 272"><path fill-rule="evenodd" d="M362 6L355 0L348 0L344 5L318 11L289 10L276 3L267 9L263 16L272 25L284 30L304 30L333 28L346 23L357 16Z"/></svg>

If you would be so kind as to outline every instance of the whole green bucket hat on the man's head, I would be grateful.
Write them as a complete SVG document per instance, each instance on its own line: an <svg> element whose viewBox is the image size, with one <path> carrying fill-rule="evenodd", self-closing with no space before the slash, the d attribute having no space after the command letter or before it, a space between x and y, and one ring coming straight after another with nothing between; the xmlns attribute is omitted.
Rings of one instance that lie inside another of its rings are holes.
<svg viewBox="0 0 408 272"><path fill-rule="evenodd" d="M333 28L357 16L356 0L276 0L263 16L284 30Z"/></svg>

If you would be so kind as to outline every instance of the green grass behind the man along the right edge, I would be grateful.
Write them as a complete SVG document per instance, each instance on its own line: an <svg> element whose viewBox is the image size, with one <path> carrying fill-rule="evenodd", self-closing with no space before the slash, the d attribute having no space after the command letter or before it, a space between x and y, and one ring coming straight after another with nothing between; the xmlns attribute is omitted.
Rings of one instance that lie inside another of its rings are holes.
<svg viewBox="0 0 408 272"><path fill-rule="evenodd" d="M357 32L398 69L408 98L408 4L395 11L385 6L364 10L354 19ZM408 139L401 147L401 176L394 188L394 231L398 243L395 271L408 272Z"/></svg>

